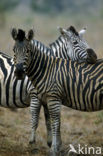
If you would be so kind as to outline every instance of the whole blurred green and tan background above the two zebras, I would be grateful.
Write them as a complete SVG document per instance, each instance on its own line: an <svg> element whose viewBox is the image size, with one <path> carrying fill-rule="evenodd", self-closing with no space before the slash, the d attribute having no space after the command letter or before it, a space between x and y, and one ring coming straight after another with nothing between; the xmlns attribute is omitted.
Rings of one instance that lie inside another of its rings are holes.
<svg viewBox="0 0 103 156"><path fill-rule="evenodd" d="M87 27L85 38L102 57L103 0L0 0L0 49L12 53L12 27L34 28L36 39L53 42L59 32L74 25Z"/></svg>

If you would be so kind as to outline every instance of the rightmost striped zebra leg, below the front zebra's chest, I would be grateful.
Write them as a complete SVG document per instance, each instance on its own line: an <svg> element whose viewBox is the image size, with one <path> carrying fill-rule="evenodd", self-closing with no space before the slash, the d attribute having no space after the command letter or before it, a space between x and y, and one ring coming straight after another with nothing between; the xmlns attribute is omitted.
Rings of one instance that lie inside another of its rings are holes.
<svg viewBox="0 0 103 156"><path fill-rule="evenodd" d="M50 155L58 156L60 151L61 133L60 133L60 112L61 112L61 101L57 98L50 98L48 100L48 109L51 118L52 128L52 146Z"/></svg>

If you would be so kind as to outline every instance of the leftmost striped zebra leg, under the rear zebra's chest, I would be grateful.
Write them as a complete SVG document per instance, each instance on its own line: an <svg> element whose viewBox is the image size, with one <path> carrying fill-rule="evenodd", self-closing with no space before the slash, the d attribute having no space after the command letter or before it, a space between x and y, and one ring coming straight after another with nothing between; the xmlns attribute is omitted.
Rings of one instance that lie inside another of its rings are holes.
<svg viewBox="0 0 103 156"><path fill-rule="evenodd" d="M30 104L30 113L31 113L31 125L32 125L32 133L30 136L30 144L36 142L36 129L38 127L39 122L39 114L40 114L41 103L36 96L31 98Z"/></svg>

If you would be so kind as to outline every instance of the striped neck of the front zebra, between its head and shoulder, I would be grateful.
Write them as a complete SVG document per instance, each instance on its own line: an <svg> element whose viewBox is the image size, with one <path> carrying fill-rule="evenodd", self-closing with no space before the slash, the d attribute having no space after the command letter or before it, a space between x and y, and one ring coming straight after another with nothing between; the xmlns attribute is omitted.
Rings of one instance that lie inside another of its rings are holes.
<svg viewBox="0 0 103 156"><path fill-rule="evenodd" d="M44 87L43 85L45 85L45 81L48 83L48 81L51 79L51 76L55 76L56 70L53 73L54 75L51 75L51 71L56 68L58 61L58 58L46 55L45 53L47 51L49 53L51 52L44 45L43 47L44 48L41 48L39 44L37 46L33 44L31 61L26 70L26 74L37 89ZM46 79L47 75L49 77L48 80Z"/></svg>

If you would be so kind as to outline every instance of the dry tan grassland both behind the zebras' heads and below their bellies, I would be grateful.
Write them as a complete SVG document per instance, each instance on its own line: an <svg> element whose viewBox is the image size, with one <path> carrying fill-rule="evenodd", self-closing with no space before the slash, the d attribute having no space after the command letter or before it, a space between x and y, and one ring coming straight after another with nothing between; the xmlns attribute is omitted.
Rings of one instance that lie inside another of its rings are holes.
<svg viewBox="0 0 103 156"><path fill-rule="evenodd" d="M15 15L15 16L14 16ZM82 21L82 22L81 22ZM0 50L12 55L13 41L10 36L10 28L16 26L26 30L34 26L36 39L45 44L54 41L59 33L57 26L68 27L75 25L78 30L87 26L86 39L93 47L99 58L103 57L103 22L99 19L71 19L70 16L44 17L42 15L28 14L24 16L16 11L7 15L6 26L0 29ZM61 134L63 147L79 144L90 146L101 146L103 148L103 114L83 113L62 109ZM46 144L46 129L43 111L40 114L40 123L37 130L37 144L34 150L28 146L30 135L29 109L21 109L11 112L0 108L0 156L46 156L48 147ZM102 154L103 155L103 154Z"/></svg>

